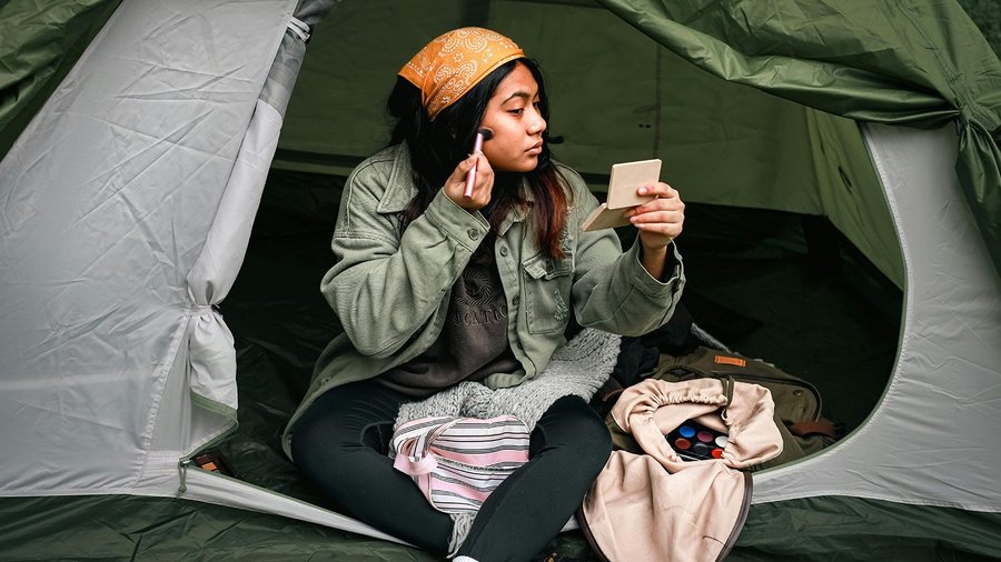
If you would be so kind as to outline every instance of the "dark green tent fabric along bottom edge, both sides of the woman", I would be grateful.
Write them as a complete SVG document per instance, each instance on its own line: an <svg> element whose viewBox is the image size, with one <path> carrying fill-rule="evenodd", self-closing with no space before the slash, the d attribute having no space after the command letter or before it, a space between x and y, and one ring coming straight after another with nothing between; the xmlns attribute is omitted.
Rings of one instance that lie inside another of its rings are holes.
<svg viewBox="0 0 1001 562"><path fill-rule="evenodd" d="M906 508L875 501L799 500L753 505L730 562L872 560L988 562L997 514ZM817 533L813 530L821 529ZM940 532L940 530L944 532ZM0 499L4 560L366 560L440 561L396 542L267 513L165 498ZM776 540L776 536L780 540ZM943 539L942 536L955 536ZM597 561L577 532L545 551Z"/></svg>

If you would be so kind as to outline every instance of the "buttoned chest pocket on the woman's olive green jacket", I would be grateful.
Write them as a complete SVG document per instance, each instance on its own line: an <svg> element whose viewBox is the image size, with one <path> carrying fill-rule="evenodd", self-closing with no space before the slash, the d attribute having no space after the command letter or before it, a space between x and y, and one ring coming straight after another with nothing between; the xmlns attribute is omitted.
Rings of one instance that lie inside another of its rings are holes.
<svg viewBox="0 0 1001 562"><path fill-rule="evenodd" d="M529 333L553 333L566 329L573 284L573 258L553 260L535 255L522 263L523 305Z"/></svg>

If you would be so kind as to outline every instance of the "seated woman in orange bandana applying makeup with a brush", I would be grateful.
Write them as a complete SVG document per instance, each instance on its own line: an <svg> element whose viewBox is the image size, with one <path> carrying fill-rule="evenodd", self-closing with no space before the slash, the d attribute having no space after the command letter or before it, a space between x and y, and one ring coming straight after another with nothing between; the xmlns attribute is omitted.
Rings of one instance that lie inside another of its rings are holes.
<svg viewBox="0 0 1001 562"><path fill-rule="evenodd" d="M625 253L614 231L581 231L597 201L549 157L542 74L489 30L428 43L400 70L389 110L393 140L348 178L321 283L344 333L317 363L286 451L377 529L456 560L527 560L604 466L602 419L581 398L556 400L532 432L529 462L465 534L393 469L400 405L462 381L496 389L536 377L571 315L621 334L664 323L684 284L672 242L684 204L665 183L640 188L657 198L633 211L640 232ZM493 134L469 154L482 128Z"/></svg>

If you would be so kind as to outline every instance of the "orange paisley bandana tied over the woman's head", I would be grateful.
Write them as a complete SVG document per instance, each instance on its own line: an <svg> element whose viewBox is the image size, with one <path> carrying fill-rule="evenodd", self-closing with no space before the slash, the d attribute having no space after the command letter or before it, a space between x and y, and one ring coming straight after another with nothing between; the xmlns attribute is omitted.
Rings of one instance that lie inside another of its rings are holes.
<svg viewBox="0 0 1001 562"><path fill-rule="evenodd" d="M427 43L399 76L420 88L420 101L435 119L497 67L524 56L521 47L496 31L460 28Z"/></svg>

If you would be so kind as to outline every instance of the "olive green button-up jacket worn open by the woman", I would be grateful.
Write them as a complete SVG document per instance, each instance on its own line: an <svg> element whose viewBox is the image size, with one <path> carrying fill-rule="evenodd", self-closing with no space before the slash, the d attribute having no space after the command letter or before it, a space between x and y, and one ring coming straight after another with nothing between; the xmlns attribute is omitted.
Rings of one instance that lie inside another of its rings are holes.
<svg viewBox="0 0 1001 562"><path fill-rule="evenodd" d="M484 383L490 388L539 373L566 342L571 313L583 327L638 335L671 318L684 287L676 250L676 267L661 282L641 265L637 244L623 252L611 229L582 232L581 223L598 202L576 172L566 167L561 172L573 190L564 259L539 250L522 210L513 211L497 232L494 252L507 298L507 338L522 369L488 377ZM416 189L403 145L367 159L345 184L331 243L335 265L320 284L344 332L320 354L306 398L289 421L288 454L290 429L317 397L414 359L442 331L452 285L489 224L439 191L402 233L399 213Z"/></svg>

